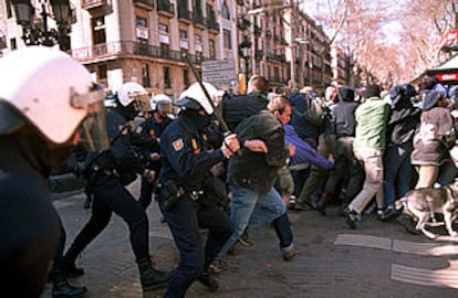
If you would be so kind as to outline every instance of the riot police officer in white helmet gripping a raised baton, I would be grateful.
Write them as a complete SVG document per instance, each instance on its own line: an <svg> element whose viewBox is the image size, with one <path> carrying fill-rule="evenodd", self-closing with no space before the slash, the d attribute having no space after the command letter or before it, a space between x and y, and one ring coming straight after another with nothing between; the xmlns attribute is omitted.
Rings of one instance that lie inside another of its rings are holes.
<svg viewBox="0 0 458 298"><path fill-rule="evenodd" d="M216 88L210 84L205 86L214 97ZM211 123L214 107L198 83L181 93L175 105L181 109L179 116L160 138L163 189L159 206L180 260L165 297L184 297L196 279L210 290L218 289L208 267L231 235L232 224L225 211L204 204L207 192L204 184L210 168L239 149L236 135L226 137L223 145L214 151L205 147L205 131ZM209 228L206 244L199 228Z"/></svg>

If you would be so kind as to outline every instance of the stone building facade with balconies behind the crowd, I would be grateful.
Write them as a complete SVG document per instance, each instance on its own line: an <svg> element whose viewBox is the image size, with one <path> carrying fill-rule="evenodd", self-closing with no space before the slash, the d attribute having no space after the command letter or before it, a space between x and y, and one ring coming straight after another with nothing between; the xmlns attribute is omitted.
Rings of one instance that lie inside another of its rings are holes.
<svg viewBox="0 0 458 298"><path fill-rule="evenodd" d="M40 15L43 1L31 2ZM0 1L0 24L4 28L0 31L1 53L24 46L22 28L8 3ZM50 12L50 4L44 3ZM215 60L232 60L235 82L243 86L252 75L266 76L272 89L304 85L324 88L334 79L329 38L294 2L72 0L71 3L69 53L112 92L134 81L150 93L177 98L196 81L189 64L199 73L204 61ZM48 19L50 28L55 25L52 13ZM233 89L244 91L238 86Z"/></svg>

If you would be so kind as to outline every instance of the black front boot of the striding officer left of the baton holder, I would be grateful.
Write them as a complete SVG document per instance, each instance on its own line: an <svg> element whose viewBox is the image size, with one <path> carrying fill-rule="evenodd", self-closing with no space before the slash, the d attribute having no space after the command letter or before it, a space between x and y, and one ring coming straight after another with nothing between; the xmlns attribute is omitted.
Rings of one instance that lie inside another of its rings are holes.
<svg viewBox="0 0 458 298"><path fill-rule="evenodd" d="M171 273L159 272L153 268L149 256L138 259L137 264L140 274L140 284L144 291L167 286Z"/></svg>

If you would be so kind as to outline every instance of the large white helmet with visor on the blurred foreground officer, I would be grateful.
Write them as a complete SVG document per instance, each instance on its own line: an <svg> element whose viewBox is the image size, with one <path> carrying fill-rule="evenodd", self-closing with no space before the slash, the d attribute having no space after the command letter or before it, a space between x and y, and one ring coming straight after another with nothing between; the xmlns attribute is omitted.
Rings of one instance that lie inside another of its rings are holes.
<svg viewBox="0 0 458 298"><path fill-rule="evenodd" d="M86 119L82 132L92 134L84 136L91 149L108 147L103 87L70 55L45 46L13 51L0 58L0 135L29 124L51 142L64 143Z"/></svg>

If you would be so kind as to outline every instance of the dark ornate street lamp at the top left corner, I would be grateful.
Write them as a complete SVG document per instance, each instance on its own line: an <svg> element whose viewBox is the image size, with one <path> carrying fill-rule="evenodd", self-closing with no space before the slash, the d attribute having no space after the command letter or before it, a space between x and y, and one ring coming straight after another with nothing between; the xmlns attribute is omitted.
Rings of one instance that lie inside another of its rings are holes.
<svg viewBox="0 0 458 298"><path fill-rule="evenodd" d="M62 51L70 50L70 29L72 11L69 0L50 0L58 30L48 26L46 1L41 3L41 19L35 19L35 8L30 0L11 0L14 7L17 23L22 26L22 40L27 45L53 46L59 44Z"/></svg>

